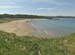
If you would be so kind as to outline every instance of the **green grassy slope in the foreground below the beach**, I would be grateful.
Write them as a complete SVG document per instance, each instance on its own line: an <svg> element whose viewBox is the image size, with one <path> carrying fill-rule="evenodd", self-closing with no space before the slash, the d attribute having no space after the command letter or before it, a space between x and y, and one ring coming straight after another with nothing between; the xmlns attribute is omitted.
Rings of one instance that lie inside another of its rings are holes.
<svg viewBox="0 0 75 55"><path fill-rule="evenodd" d="M38 39L0 31L0 55L75 55L75 34Z"/></svg>

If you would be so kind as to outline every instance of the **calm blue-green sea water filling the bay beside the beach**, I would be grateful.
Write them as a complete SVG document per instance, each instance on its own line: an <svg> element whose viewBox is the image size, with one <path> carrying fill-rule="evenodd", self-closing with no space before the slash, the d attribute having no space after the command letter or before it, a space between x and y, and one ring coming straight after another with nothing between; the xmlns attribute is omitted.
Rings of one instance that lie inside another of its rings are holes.
<svg viewBox="0 0 75 55"><path fill-rule="evenodd" d="M75 33L75 18L34 19L31 24L34 28L55 36Z"/></svg>

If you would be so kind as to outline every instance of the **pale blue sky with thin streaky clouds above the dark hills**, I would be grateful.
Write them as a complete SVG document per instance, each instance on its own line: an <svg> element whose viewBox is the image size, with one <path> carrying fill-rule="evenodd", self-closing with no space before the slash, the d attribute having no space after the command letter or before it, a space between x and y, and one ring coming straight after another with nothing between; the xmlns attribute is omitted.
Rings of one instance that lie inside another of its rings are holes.
<svg viewBox="0 0 75 55"><path fill-rule="evenodd" d="M75 0L0 0L0 14L75 16Z"/></svg>

